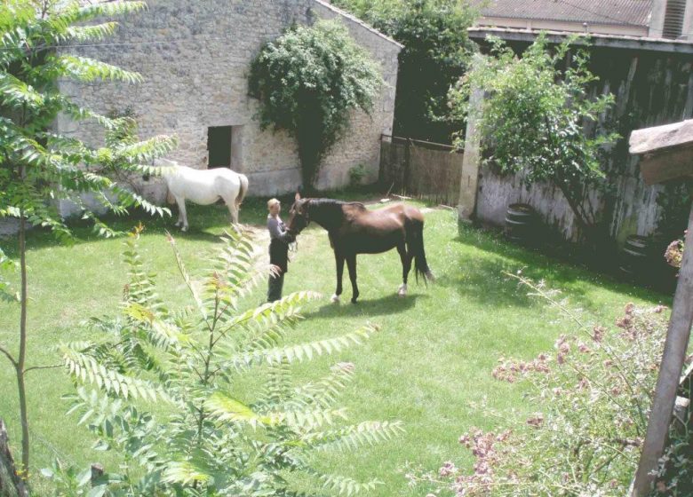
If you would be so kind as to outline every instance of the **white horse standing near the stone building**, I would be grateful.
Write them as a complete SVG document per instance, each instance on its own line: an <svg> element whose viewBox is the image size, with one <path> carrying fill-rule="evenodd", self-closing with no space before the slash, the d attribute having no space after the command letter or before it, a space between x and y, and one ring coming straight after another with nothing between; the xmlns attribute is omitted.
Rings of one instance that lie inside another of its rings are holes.
<svg viewBox="0 0 693 497"><path fill-rule="evenodd" d="M227 168L195 170L178 162L160 159L163 178L169 187L168 200L178 204L178 222L187 231L186 199L200 205L210 205L219 199L227 204L231 221L238 223L238 208L248 192L248 178Z"/></svg>

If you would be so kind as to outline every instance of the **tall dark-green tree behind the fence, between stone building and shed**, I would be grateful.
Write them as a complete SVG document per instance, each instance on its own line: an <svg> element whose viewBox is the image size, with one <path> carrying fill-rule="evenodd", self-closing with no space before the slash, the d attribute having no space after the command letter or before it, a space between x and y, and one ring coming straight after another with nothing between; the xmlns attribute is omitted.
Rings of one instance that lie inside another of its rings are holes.
<svg viewBox="0 0 693 497"><path fill-rule="evenodd" d="M402 43L394 133L450 143L462 128L450 119L448 91L465 74L474 51L466 29L478 15L462 0L334 0Z"/></svg>

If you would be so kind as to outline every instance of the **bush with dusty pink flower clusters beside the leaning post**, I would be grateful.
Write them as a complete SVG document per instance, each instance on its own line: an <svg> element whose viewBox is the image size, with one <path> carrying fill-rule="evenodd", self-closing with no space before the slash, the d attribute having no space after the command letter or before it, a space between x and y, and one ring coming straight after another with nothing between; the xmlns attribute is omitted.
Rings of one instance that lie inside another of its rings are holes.
<svg viewBox="0 0 693 497"><path fill-rule="evenodd" d="M471 469L447 461L412 481L455 497L625 495L647 430L668 312L627 304L614 327L587 325L554 292L514 276L576 324L554 351L501 358L490 372L525 388L539 411L462 435L460 444L474 455Z"/></svg>

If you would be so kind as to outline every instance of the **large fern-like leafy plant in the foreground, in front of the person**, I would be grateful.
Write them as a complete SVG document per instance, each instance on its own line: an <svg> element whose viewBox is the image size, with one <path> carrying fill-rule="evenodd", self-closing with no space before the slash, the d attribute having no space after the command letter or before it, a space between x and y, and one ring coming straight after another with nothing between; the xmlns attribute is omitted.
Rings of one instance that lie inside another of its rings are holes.
<svg viewBox="0 0 693 497"><path fill-rule="evenodd" d="M346 410L335 404L354 375L350 363L302 385L291 377L292 364L361 344L376 328L285 345L300 305L316 295L293 293L241 309L264 272L254 268L251 241L236 230L223 237L201 281L188 274L170 238L191 300L173 311L139 256L139 231L126 242L130 270L120 318L92 319L92 332L106 334L99 342L60 346L77 385L70 412L98 437L97 447L123 457L123 474L105 475L104 494L352 495L377 485L323 474L315 457L389 440L401 423L343 425ZM264 381L239 386L247 380ZM323 490L298 493L298 474Z"/></svg>

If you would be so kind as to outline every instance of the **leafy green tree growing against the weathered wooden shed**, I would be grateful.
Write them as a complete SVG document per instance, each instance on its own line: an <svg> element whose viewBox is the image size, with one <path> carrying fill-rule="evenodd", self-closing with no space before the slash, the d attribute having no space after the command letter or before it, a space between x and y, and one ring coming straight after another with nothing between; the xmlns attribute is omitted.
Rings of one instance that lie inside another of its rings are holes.
<svg viewBox="0 0 693 497"><path fill-rule="evenodd" d="M587 68L589 54L571 51L570 39L551 53L546 36L538 36L522 58L499 39L491 42L491 55L476 56L472 71L450 91L453 112L469 114L472 92L484 91L481 108L471 112L479 121L486 162L501 173L524 171L529 183L557 185L590 237L599 220L589 187L602 184L601 147L618 138L594 128L613 96L589 98L596 80ZM562 70L569 57L572 62ZM457 145L463 146L461 137Z"/></svg>

